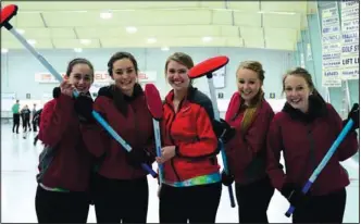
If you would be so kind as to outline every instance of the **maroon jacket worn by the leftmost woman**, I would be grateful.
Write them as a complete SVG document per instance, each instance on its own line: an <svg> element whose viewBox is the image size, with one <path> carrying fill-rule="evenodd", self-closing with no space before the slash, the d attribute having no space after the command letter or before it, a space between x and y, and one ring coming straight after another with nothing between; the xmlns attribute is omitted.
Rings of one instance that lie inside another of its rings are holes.
<svg viewBox="0 0 361 224"><path fill-rule="evenodd" d="M43 174L40 183L71 191L87 190L92 155L103 153L102 134L96 124L79 124L71 97L60 95L45 104L39 139L48 146L40 154L39 171ZM48 162L46 170L43 164Z"/></svg>

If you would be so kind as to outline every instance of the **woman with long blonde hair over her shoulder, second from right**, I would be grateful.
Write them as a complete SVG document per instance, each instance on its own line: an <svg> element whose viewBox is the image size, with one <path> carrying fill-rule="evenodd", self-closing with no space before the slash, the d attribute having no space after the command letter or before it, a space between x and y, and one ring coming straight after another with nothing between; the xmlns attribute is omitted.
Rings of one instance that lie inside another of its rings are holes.
<svg viewBox="0 0 361 224"><path fill-rule="evenodd" d="M261 63L241 62L236 75L238 91L233 95L225 115L236 135L225 145L231 174L222 172L222 182L226 186L236 182L240 223L267 223L266 211L274 187L265 172L266 135L274 112L264 99Z"/></svg>

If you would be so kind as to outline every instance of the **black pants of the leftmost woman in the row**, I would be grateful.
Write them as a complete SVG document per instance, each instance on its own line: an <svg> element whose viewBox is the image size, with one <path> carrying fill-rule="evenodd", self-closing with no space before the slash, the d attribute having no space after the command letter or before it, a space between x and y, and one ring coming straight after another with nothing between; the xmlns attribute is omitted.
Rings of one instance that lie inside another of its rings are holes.
<svg viewBox="0 0 361 224"><path fill-rule="evenodd" d="M38 223L87 223L89 198L86 192L55 192L38 186L35 208Z"/></svg>

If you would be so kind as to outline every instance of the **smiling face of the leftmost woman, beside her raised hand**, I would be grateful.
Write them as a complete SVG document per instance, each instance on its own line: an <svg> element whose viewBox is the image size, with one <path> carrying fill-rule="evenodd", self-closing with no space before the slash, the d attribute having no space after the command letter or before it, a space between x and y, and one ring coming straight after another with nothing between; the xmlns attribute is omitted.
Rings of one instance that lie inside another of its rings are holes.
<svg viewBox="0 0 361 224"><path fill-rule="evenodd" d="M77 91L86 94L94 82L94 71L86 63L74 64L69 75L69 83L73 84Z"/></svg>

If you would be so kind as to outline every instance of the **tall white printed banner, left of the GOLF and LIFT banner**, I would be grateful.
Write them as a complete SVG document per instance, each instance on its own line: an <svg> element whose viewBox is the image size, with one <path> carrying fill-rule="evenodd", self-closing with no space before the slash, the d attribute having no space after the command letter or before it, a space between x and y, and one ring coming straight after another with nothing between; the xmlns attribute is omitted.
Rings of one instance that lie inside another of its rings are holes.
<svg viewBox="0 0 361 224"><path fill-rule="evenodd" d="M322 86L341 87L341 45L337 2L321 13L322 21Z"/></svg>

